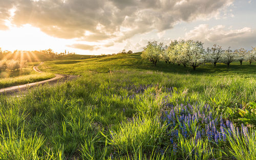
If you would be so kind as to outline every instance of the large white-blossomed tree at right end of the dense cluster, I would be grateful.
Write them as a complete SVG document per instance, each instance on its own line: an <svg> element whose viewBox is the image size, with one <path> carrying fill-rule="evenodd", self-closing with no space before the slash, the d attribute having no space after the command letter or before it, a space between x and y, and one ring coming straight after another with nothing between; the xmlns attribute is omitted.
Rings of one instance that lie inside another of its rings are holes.
<svg viewBox="0 0 256 160"><path fill-rule="evenodd" d="M203 42L194 40L183 41L181 48L178 59L183 59L182 63L184 66L192 66L193 70L196 70L196 67L205 62Z"/></svg>

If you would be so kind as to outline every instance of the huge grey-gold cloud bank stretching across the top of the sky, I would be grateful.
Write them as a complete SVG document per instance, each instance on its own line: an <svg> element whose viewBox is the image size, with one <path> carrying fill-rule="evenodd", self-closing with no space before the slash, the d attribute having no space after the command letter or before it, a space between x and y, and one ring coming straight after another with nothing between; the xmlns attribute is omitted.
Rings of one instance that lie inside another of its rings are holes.
<svg viewBox="0 0 256 160"><path fill-rule="evenodd" d="M4 21L8 19L12 25L30 24L58 38L122 42L155 29L172 29L180 21L215 17L232 3L233 0L5 0L0 2L0 29L6 28ZM10 19L12 8L15 15Z"/></svg>

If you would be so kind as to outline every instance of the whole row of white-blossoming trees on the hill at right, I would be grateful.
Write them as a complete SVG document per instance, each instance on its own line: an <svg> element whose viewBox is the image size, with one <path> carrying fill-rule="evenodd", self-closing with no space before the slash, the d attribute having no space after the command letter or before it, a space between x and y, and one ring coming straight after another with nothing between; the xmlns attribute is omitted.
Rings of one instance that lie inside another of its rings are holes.
<svg viewBox="0 0 256 160"><path fill-rule="evenodd" d="M154 65L163 60L165 63L177 65L192 66L193 70L206 62L212 62L214 66L217 63L225 63L227 66L233 61L249 61L251 64L256 61L256 47L251 51L243 48L239 50L223 50L220 45L214 44L211 48L205 49L203 42L194 40L174 40L169 45L163 45L162 42L148 42L143 48L141 57L151 61Z"/></svg>

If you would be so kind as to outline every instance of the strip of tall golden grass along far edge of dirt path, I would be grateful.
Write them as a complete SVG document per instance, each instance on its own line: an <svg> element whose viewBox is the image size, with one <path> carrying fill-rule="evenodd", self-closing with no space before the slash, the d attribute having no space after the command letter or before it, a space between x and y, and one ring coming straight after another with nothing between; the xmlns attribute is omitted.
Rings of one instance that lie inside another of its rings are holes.
<svg viewBox="0 0 256 160"><path fill-rule="evenodd" d="M39 81L43 81L43 80L50 79L53 77L55 77L55 75L52 73L37 73L37 74L30 74L30 75L25 75L25 76L2 78L2 79L0 79L0 88L20 85L20 84L39 82Z"/></svg>

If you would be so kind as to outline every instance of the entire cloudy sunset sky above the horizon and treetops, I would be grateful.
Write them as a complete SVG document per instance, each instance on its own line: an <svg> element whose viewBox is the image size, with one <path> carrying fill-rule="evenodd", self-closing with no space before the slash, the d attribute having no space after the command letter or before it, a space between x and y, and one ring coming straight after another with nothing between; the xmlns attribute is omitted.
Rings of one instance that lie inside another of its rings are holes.
<svg viewBox="0 0 256 160"><path fill-rule="evenodd" d="M148 41L256 47L256 0L0 0L0 48L100 55Z"/></svg>

